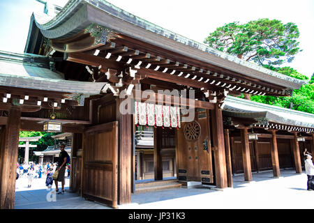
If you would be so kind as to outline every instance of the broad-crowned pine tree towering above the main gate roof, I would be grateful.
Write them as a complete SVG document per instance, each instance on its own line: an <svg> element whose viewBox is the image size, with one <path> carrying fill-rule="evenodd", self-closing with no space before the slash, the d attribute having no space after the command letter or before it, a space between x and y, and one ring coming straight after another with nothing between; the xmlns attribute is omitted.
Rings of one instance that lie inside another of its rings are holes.
<svg viewBox="0 0 314 223"><path fill-rule="evenodd" d="M278 66L291 62L301 51L297 38L299 29L296 24L265 18L246 24L225 24L209 33L204 43L261 66Z"/></svg>

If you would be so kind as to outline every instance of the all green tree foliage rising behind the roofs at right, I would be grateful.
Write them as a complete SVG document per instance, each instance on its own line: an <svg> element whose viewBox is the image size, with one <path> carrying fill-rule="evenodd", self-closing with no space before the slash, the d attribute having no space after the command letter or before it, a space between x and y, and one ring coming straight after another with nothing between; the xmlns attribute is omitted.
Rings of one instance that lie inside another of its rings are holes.
<svg viewBox="0 0 314 223"><path fill-rule="evenodd" d="M204 43L270 70L305 80L308 77L289 66L280 68L283 63L291 62L294 55L301 52L297 38L299 29L296 24L283 24L279 20L265 18L246 24L225 24L209 33ZM241 98L244 98L243 94ZM291 97L252 95L251 100L314 114L314 74L310 82L294 90Z"/></svg>

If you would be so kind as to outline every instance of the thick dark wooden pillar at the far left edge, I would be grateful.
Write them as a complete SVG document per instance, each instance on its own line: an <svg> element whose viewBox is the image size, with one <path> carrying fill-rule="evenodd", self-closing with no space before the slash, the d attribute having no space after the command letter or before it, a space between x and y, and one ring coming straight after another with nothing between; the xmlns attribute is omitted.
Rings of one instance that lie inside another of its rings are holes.
<svg viewBox="0 0 314 223"><path fill-rule="evenodd" d="M5 130L1 130L0 208L13 209L15 201L16 163L20 134L21 110L12 107L8 112Z"/></svg>

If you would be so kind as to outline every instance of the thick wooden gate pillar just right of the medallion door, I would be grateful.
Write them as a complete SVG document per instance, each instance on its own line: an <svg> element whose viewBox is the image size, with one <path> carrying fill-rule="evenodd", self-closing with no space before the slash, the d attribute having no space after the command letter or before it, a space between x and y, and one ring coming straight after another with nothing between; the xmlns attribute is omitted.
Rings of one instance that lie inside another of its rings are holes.
<svg viewBox="0 0 314 223"><path fill-rule="evenodd" d="M225 163L223 113L217 104L215 105L215 109L211 110L211 125L214 147L216 187L225 188L227 187L227 169Z"/></svg>

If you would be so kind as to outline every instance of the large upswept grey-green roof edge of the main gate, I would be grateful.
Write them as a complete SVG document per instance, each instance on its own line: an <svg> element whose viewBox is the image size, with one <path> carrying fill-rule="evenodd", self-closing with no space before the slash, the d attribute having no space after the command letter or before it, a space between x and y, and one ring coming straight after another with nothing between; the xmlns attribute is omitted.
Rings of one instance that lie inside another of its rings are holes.
<svg viewBox="0 0 314 223"><path fill-rule="evenodd" d="M70 0L61 12L49 22L43 24L38 20L35 18L36 25L46 38L67 38L79 33L90 24L96 23L145 43L287 89L299 89L302 84L307 83L197 43L142 20L107 1Z"/></svg>

